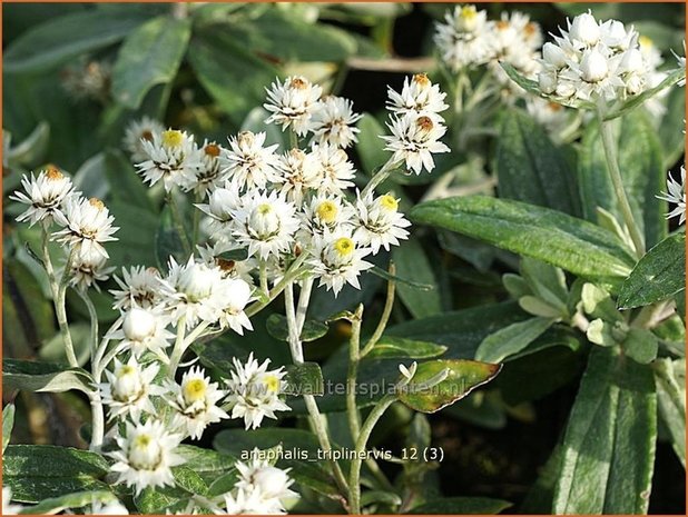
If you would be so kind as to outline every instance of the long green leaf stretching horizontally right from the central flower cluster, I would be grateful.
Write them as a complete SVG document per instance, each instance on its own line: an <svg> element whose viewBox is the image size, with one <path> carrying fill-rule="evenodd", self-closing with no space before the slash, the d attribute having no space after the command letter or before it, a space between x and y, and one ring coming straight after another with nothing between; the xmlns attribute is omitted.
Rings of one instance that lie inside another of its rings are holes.
<svg viewBox="0 0 688 517"><path fill-rule="evenodd" d="M549 208L482 196L415 206L412 220L482 239L583 277L626 277L633 259L609 231Z"/></svg>

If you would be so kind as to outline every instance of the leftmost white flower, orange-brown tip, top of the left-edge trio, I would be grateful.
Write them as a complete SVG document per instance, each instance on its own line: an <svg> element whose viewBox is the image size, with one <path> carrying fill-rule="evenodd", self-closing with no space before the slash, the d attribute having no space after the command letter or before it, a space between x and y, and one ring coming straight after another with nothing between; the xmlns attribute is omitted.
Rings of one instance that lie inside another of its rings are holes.
<svg viewBox="0 0 688 517"><path fill-rule="evenodd" d="M30 226L43 220L47 225L52 222L56 216L62 215L63 202L73 193L71 180L53 167L42 170L38 178L33 172L31 179L24 175L21 186L26 193L17 190L10 199L29 206L17 220L29 220Z"/></svg>

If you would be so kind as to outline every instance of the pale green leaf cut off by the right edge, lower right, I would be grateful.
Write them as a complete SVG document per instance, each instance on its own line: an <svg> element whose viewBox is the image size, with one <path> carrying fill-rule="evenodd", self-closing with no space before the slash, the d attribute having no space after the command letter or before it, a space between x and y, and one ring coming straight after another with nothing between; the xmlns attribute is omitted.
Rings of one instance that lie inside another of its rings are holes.
<svg viewBox="0 0 688 517"><path fill-rule="evenodd" d="M655 364L659 415L669 429L674 451L686 468L686 360L659 359Z"/></svg>

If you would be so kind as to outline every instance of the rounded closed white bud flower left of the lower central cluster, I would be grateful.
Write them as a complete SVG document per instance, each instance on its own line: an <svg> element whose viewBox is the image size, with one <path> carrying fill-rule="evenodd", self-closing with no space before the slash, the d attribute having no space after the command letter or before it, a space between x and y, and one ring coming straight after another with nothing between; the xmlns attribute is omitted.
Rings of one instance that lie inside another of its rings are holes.
<svg viewBox="0 0 688 517"><path fill-rule="evenodd" d="M170 318L163 312L163 307L148 309L131 307L122 315L121 329L109 336L111 339L121 339L119 347L122 350L130 350L134 357L151 351L164 358L163 350L175 337L167 330L169 324Z"/></svg>

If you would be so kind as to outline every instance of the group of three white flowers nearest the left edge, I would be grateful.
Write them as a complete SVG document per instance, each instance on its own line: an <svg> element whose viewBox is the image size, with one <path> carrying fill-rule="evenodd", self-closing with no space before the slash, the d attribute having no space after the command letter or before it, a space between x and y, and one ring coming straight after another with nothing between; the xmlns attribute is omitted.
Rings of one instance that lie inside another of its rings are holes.
<svg viewBox="0 0 688 517"><path fill-rule="evenodd" d="M29 208L17 220L29 221L30 226L40 222L46 235L53 223L60 227L51 232L51 238L66 250L62 277L82 290L106 280L112 268L106 266L109 255L104 242L117 240L112 235L118 228L112 226L115 218L105 203L97 198L85 198L55 167L42 170L38 177L24 176L21 185L24 191L16 191L10 199Z"/></svg>

